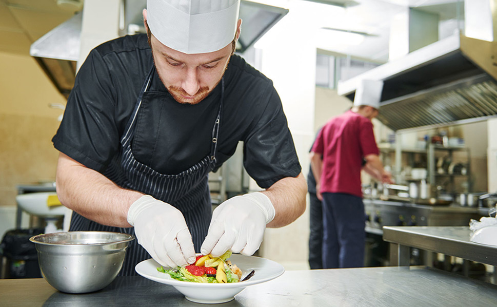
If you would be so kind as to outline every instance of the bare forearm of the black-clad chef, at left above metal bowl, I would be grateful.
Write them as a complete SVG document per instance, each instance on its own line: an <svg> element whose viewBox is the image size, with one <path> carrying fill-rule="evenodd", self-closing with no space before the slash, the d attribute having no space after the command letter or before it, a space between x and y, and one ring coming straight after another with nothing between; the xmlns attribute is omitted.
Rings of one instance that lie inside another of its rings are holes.
<svg viewBox="0 0 497 307"><path fill-rule="evenodd" d="M129 206L143 196L117 186L100 172L62 153L57 163L56 188L66 207L92 221L116 227L131 226L127 222Z"/></svg>

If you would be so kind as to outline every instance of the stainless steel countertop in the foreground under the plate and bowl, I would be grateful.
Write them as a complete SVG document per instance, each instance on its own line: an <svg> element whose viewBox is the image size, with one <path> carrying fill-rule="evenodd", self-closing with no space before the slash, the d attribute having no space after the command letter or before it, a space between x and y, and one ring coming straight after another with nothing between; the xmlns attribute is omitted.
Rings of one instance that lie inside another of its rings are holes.
<svg viewBox="0 0 497 307"><path fill-rule="evenodd" d="M497 285L429 267L368 267L287 271L247 287L235 300L211 306L490 306ZM44 279L1 279L3 306L189 306L172 286L141 276L118 277L103 290L66 294ZM206 305L208 306L208 305Z"/></svg>

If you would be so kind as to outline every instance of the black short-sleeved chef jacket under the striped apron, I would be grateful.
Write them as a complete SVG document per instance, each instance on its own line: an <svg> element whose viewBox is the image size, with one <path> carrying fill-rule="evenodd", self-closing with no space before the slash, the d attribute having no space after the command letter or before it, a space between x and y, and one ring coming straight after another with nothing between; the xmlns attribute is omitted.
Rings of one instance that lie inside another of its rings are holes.
<svg viewBox="0 0 497 307"><path fill-rule="evenodd" d="M145 34L106 42L88 55L69 95L54 147L103 172L120 146L146 75L153 65ZM301 166L272 81L233 55L224 75L225 94L216 168L244 142L244 166L263 188L296 177ZM155 72L154 99L138 111L131 143L136 160L154 170L178 174L207 156L221 97L221 83L202 102L177 103Z"/></svg>

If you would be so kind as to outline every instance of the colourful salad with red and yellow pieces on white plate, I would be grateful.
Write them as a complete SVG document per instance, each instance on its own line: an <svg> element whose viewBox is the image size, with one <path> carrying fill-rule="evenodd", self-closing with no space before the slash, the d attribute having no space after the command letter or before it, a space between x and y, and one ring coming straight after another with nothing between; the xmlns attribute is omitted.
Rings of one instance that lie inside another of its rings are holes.
<svg viewBox="0 0 497 307"><path fill-rule="evenodd" d="M242 270L227 260L230 256L230 251L220 257L198 255L194 264L177 266L172 270L166 270L161 266L157 267L157 271L169 274L172 278L181 281L204 283L238 282L242 277ZM249 276L251 275L253 275L253 271L249 274Z"/></svg>

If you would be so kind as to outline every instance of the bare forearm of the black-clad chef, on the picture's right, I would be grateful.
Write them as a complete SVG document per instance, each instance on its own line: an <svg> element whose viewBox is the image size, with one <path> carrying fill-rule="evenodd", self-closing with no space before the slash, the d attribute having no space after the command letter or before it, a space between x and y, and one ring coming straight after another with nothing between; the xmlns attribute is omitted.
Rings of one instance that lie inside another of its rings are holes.
<svg viewBox="0 0 497 307"><path fill-rule="evenodd" d="M286 177L263 191L274 206L274 219L268 227L283 227L300 217L306 209L307 183L302 175Z"/></svg>

